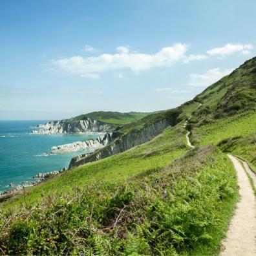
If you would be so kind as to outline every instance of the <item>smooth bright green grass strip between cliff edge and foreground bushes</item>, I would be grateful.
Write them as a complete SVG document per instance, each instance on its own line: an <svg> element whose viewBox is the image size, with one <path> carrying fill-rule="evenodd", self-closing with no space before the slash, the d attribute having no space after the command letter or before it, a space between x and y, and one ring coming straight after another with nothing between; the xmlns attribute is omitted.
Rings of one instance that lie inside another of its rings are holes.
<svg viewBox="0 0 256 256"><path fill-rule="evenodd" d="M168 127L151 142L53 176L42 184L28 188L26 201L30 203L57 191L70 191L74 187L100 180L117 181L150 169L164 167L187 151L185 133L181 124ZM16 199L12 198L4 202L2 206L12 207L21 202L23 197L19 195Z"/></svg>

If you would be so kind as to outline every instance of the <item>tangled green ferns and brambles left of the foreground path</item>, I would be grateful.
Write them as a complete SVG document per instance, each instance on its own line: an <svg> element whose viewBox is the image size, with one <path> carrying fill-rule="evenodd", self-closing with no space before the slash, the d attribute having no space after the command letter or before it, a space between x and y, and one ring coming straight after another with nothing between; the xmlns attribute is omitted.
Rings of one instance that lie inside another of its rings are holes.
<svg viewBox="0 0 256 256"><path fill-rule="evenodd" d="M0 248L3 254L215 255L236 201L231 162L204 147L127 180L1 211Z"/></svg>

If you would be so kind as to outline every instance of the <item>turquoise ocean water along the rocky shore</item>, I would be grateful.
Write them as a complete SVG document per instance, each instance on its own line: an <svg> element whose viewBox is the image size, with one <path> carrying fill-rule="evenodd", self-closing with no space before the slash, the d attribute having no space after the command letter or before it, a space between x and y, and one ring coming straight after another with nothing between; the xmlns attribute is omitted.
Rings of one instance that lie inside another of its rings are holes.
<svg viewBox="0 0 256 256"><path fill-rule="evenodd" d="M16 186L30 182L37 173L54 171L68 167L72 156L85 151L63 155L49 155L54 145L68 144L79 140L96 138L97 134L30 134L38 121L0 121L0 193L8 189L10 183Z"/></svg>

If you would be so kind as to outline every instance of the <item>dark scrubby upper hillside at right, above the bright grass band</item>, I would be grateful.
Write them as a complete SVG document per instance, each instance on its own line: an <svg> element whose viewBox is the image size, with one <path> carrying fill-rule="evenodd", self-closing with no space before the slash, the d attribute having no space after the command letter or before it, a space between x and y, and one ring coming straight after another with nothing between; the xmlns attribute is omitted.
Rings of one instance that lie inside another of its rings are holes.
<svg viewBox="0 0 256 256"><path fill-rule="evenodd" d="M195 97L202 107L193 123L206 123L239 112L256 110L256 57L246 61Z"/></svg>

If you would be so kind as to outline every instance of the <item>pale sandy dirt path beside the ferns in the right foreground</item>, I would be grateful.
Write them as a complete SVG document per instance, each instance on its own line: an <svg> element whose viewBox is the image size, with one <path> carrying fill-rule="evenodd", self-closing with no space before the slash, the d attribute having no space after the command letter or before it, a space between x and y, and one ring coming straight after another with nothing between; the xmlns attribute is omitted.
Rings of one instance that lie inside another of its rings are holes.
<svg viewBox="0 0 256 256"><path fill-rule="evenodd" d="M256 202L248 176L239 160L228 155L237 171L240 201L231 219L220 256L256 255Z"/></svg>

